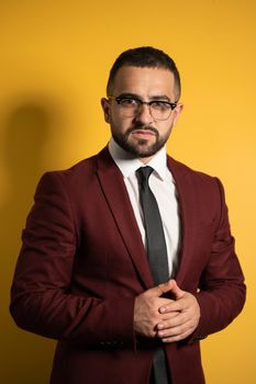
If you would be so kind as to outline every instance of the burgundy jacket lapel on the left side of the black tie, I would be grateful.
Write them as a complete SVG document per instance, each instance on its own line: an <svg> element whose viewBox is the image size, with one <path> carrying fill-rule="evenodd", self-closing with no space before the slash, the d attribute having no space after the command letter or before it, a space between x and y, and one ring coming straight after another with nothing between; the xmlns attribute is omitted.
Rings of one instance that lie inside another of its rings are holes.
<svg viewBox="0 0 256 384"><path fill-rule="evenodd" d="M141 233L133 213L123 176L112 160L108 148L97 156L97 174L105 201L122 236L144 289L153 286L153 279Z"/></svg>

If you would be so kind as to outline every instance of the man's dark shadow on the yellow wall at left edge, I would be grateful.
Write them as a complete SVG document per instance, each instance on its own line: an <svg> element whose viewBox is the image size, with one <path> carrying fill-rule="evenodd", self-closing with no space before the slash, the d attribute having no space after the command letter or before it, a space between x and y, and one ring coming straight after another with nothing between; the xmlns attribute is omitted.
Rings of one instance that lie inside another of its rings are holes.
<svg viewBox="0 0 256 384"><path fill-rule="evenodd" d="M53 136L56 122L62 121L49 100L31 97L15 101L8 108L3 131L3 165L5 170L5 199L1 202L1 255L3 286L9 287L20 248L20 236L38 178L44 172L44 147ZM9 304L5 290L4 305ZM1 377L5 383L46 383L53 354L53 342L34 337L14 327L9 316L3 316L2 338L4 364ZM2 321L1 321L2 323ZM25 358L24 358L25 355ZM31 369L31 364L33 369ZM47 366L45 366L45 364ZM45 374L44 374L45 372ZM2 382L3 383L3 382Z"/></svg>

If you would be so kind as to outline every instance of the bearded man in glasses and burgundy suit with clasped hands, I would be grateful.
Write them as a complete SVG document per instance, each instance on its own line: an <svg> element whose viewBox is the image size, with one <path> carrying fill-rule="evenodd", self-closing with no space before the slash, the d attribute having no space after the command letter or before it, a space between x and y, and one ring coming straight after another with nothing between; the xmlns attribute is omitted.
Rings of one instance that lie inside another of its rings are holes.
<svg viewBox="0 0 256 384"><path fill-rule="evenodd" d="M182 105L165 53L124 52L107 94L109 145L37 187L11 314L59 340L52 384L202 384L199 340L245 301L223 188L166 155Z"/></svg>

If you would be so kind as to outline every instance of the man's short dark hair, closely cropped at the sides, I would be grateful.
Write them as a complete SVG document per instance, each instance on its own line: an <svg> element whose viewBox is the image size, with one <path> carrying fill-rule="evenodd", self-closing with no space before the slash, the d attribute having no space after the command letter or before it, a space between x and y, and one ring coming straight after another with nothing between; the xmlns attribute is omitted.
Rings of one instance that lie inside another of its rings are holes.
<svg viewBox="0 0 256 384"><path fill-rule="evenodd" d="M178 101L181 92L180 76L175 61L163 50L149 46L132 48L124 50L114 61L110 70L110 76L107 84L107 94L111 95L114 78L118 70L124 66L140 68L164 68L174 74L175 91Z"/></svg>

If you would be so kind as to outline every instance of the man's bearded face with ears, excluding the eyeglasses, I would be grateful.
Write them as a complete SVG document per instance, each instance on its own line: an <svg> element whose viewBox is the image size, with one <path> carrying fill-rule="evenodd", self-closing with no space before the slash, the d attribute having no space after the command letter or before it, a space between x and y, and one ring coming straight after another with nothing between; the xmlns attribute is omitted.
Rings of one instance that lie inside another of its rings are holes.
<svg viewBox="0 0 256 384"><path fill-rule="evenodd" d="M121 67L115 76L112 97L133 97L141 101L176 101L174 75L163 68ZM115 142L127 153L147 162L169 138L182 105L178 104L167 120L156 120L146 104L134 116L124 116L114 99L102 99L105 122Z"/></svg>

